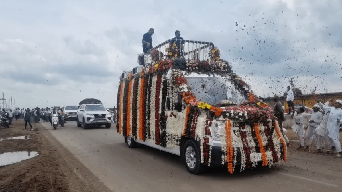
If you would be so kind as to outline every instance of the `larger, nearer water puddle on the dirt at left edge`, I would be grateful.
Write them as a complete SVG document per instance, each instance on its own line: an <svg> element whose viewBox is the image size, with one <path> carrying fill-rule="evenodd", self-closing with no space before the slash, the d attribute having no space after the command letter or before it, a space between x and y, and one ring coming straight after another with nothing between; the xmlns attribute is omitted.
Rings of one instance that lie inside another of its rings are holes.
<svg viewBox="0 0 342 192"><path fill-rule="evenodd" d="M0 154L0 166L18 163L26 159L38 156L37 151L16 151Z"/></svg>

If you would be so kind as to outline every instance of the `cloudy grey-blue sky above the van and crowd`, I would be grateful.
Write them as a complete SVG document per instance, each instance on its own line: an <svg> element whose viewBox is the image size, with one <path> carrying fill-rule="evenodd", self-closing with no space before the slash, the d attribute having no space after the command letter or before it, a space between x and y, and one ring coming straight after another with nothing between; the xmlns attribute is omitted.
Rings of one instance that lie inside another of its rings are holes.
<svg viewBox="0 0 342 192"><path fill-rule="evenodd" d="M258 95L282 93L290 77L306 93L342 92L341 11L340 0L4 0L0 91L19 107L112 107L153 27L154 45L175 30L213 42Z"/></svg>

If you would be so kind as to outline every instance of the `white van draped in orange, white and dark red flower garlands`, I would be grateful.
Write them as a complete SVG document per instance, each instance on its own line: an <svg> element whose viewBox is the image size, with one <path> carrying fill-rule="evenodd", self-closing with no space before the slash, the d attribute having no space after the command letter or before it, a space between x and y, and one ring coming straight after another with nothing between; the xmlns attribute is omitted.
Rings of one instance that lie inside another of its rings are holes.
<svg viewBox="0 0 342 192"><path fill-rule="evenodd" d="M209 42L181 43L199 48L179 52L168 40L143 55L144 67L122 73L117 132L128 147L140 143L179 155L193 174L204 166L233 173L286 161L273 110L220 59L220 50Z"/></svg>

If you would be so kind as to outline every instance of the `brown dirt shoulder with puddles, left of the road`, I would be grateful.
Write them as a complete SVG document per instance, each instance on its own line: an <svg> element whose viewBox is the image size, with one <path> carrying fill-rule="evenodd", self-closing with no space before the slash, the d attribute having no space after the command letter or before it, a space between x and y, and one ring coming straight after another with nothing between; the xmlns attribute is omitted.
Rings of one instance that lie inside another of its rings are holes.
<svg viewBox="0 0 342 192"><path fill-rule="evenodd" d="M106 186L59 143L40 123L36 130L23 130L22 120L1 128L0 138L29 136L29 139L0 141L0 154L37 151L39 155L0 166L0 192L11 191L109 191Z"/></svg>

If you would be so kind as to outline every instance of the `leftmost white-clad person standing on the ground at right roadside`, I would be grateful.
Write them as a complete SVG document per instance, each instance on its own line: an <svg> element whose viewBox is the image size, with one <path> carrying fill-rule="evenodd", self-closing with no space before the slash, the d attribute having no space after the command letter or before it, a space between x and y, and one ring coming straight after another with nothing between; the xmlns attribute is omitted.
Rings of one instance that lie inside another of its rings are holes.
<svg viewBox="0 0 342 192"><path fill-rule="evenodd" d="M294 117L295 124L292 126L294 133L297 134L300 146L297 149L302 149L304 147L304 121L303 121L303 112L305 111L304 107L301 106L297 109L294 114L291 115L291 118Z"/></svg>

